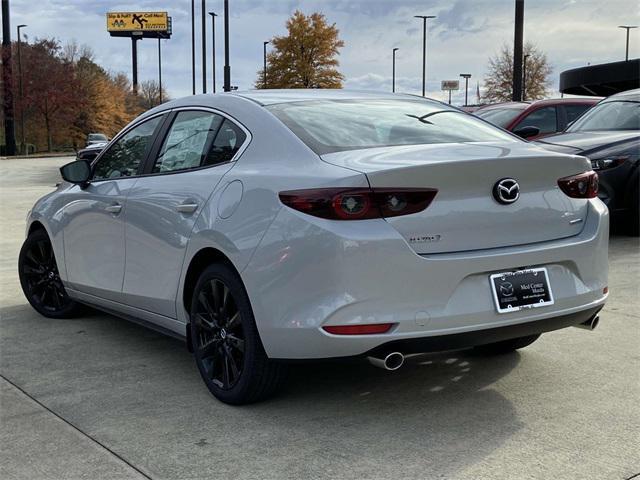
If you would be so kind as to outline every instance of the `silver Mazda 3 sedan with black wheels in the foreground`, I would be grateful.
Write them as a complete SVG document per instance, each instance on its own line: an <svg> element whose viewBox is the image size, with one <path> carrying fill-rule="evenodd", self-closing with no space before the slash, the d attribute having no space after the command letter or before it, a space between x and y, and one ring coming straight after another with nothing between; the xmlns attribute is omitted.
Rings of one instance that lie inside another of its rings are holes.
<svg viewBox="0 0 640 480"><path fill-rule="evenodd" d="M272 394L287 360L513 351L593 327L608 294L589 161L420 97L192 96L61 173L27 219L33 308L185 338L227 403Z"/></svg>

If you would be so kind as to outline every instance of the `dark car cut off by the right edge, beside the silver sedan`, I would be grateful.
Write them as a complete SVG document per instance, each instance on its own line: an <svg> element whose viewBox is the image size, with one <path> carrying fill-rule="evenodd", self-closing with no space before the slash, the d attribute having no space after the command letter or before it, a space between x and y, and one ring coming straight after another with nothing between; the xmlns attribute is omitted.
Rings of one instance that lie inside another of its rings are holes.
<svg viewBox="0 0 640 480"><path fill-rule="evenodd" d="M565 133L540 146L589 157L600 177L598 196L615 221L638 235L640 205L640 89L612 95L580 117Z"/></svg>

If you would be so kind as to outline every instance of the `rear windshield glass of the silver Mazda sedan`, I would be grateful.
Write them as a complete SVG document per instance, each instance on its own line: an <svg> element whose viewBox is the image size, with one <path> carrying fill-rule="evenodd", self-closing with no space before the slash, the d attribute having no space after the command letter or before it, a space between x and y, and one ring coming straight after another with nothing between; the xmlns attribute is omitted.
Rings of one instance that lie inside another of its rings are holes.
<svg viewBox="0 0 640 480"><path fill-rule="evenodd" d="M519 141L428 100L314 100L267 108L319 155L392 145Z"/></svg>

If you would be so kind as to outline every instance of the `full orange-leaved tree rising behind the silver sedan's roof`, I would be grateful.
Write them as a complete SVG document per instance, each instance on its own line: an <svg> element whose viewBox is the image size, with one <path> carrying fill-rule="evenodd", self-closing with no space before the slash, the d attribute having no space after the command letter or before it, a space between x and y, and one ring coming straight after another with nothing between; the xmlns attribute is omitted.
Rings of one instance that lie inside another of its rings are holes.
<svg viewBox="0 0 640 480"><path fill-rule="evenodd" d="M287 20L288 34L273 37L267 55L267 88L341 88L344 76L337 56L344 42L335 23L320 13L307 16L296 10ZM264 72L258 71L256 88L264 88Z"/></svg>

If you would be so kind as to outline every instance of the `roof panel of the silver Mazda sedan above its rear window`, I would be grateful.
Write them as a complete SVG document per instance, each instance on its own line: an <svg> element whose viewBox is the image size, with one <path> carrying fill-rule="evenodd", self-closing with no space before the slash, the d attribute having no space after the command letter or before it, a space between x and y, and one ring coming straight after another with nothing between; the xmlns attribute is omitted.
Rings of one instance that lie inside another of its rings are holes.
<svg viewBox="0 0 640 480"><path fill-rule="evenodd" d="M343 90L343 89L290 89L290 90L247 90L236 92L235 95L253 100L260 105L274 105L276 103L302 102L307 100L361 100L384 98L419 98L414 95Z"/></svg>

